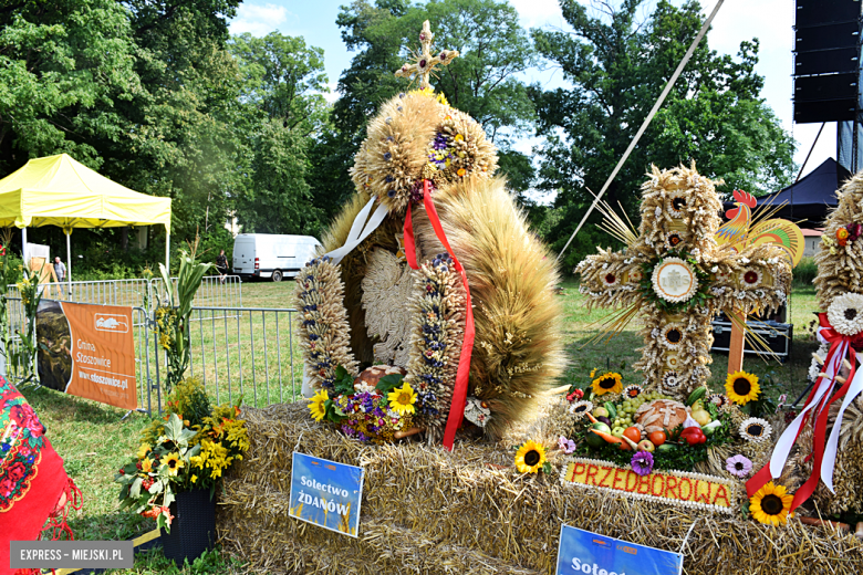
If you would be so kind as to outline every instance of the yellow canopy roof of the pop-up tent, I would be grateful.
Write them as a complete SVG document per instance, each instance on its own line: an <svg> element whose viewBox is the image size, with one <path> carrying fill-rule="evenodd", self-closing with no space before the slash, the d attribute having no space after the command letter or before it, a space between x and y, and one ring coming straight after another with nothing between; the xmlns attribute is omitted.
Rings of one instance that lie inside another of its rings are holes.
<svg viewBox="0 0 863 575"><path fill-rule="evenodd" d="M163 224L170 198L133 191L66 154L31 159L0 180L0 227L110 228Z"/></svg>

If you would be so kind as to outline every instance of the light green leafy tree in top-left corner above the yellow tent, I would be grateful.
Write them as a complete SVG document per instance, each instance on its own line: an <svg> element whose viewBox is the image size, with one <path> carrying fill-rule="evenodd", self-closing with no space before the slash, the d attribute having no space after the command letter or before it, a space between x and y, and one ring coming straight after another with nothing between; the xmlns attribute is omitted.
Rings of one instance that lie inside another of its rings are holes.
<svg viewBox="0 0 863 575"><path fill-rule="evenodd" d="M126 11L114 0L0 8L0 171L67 153L98 169L94 142L125 123L113 103L141 90Z"/></svg>

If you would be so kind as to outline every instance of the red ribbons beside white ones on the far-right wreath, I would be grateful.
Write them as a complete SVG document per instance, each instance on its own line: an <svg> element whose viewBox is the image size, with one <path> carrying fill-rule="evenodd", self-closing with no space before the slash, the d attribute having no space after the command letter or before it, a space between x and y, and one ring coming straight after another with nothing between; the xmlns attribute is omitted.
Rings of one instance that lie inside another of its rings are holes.
<svg viewBox="0 0 863 575"><path fill-rule="evenodd" d="M854 379L854 370L856 368L855 363L855 354L854 349L851 347L851 337L846 335L842 335L839 332L836 332L832 325L830 325L830 321L828 320L828 316L825 313L818 314L818 322L821 325L822 330L819 332L821 336L830 344L830 351L828 352L828 356L825 359L824 365L830 365L833 360L835 355L839 353L840 348L842 347L842 344L848 344L848 354L849 359L851 364L851 373L848 375L848 379L845 380L844 385L836 391L833 397L830 397L830 391L825 393L824 396L819 401L819 405L814 409L810 409L805 412L803 416L803 421L800 425L800 429L798 429L797 437L794 438L794 442L800 438L800 433L803 430L803 427L807 424L807 420L809 419L809 416L812 415L815 418L815 435L813 439L813 446L814 451L813 454L810 457L813 457L812 462L812 473L809 475L809 479L800 485L800 489L797 490L794 493L794 499L791 502L791 511L796 510L801 503L807 501L812 493L815 491L815 488L818 488L818 481L821 478L821 462L824 459L824 447L825 447L825 436L826 436L826 426L828 426L828 419L830 417L830 406L833 405L833 401L839 399L840 397L844 397L844 395L848 393L849 387L851 387L851 380ZM831 379L831 387L833 384L835 384L836 376L839 375L839 366L836 367L836 373L833 374L833 377ZM818 391L818 388L820 387L821 383L823 380L823 377L819 377L815 380L815 385L812 386L812 391L809 394L809 397L807 398L807 402L803 406L804 408L812 404L812 400L814 399L815 393ZM836 424L839 425L839 422ZM772 481L773 477L770 472L770 462L768 461L765 467L762 467L758 473L752 475L752 479L746 482L746 492L751 498L755 495L759 489L765 487L769 481Z"/></svg>

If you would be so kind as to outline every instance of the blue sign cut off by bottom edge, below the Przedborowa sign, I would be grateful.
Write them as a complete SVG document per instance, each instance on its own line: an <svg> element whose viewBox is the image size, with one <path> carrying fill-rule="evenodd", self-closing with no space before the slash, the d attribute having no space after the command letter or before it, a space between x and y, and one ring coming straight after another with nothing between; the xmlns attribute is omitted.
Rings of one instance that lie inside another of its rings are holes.
<svg viewBox="0 0 863 575"><path fill-rule="evenodd" d="M683 555L561 525L558 575L680 575Z"/></svg>

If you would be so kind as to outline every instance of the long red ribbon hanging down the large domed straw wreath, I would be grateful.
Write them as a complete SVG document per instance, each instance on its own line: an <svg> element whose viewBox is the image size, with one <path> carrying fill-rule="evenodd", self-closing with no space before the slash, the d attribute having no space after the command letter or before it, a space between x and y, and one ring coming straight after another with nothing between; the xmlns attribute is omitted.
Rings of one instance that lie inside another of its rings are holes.
<svg viewBox="0 0 863 575"><path fill-rule="evenodd" d="M440 218L437 216L435 203L432 201L432 194L428 187L428 180L423 180L423 203L426 207L428 221L432 223L437 239L446 248L447 253L453 258L453 264L456 271L461 274L461 282L465 285L465 301L467 314L465 318L465 339L461 342L461 355L458 359L458 370L456 372L456 386L453 390L453 402L449 406L449 416L447 417L447 427L444 430L444 447L453 451L453 443L456 440L456 430L458 430L465 418L465 402L467 401L468 376L470 375L470 355L474 353L474 337L476 328L474 327L474 307L470 305L470 286L468 285L465 268L453 253L449 247L447 234L440 226ZM414 240L414 223L410 216L410 203L407 205L407 215L405 216L405 257L407 264L414 270L418 270L416 262L416 242Z"/></svg>

